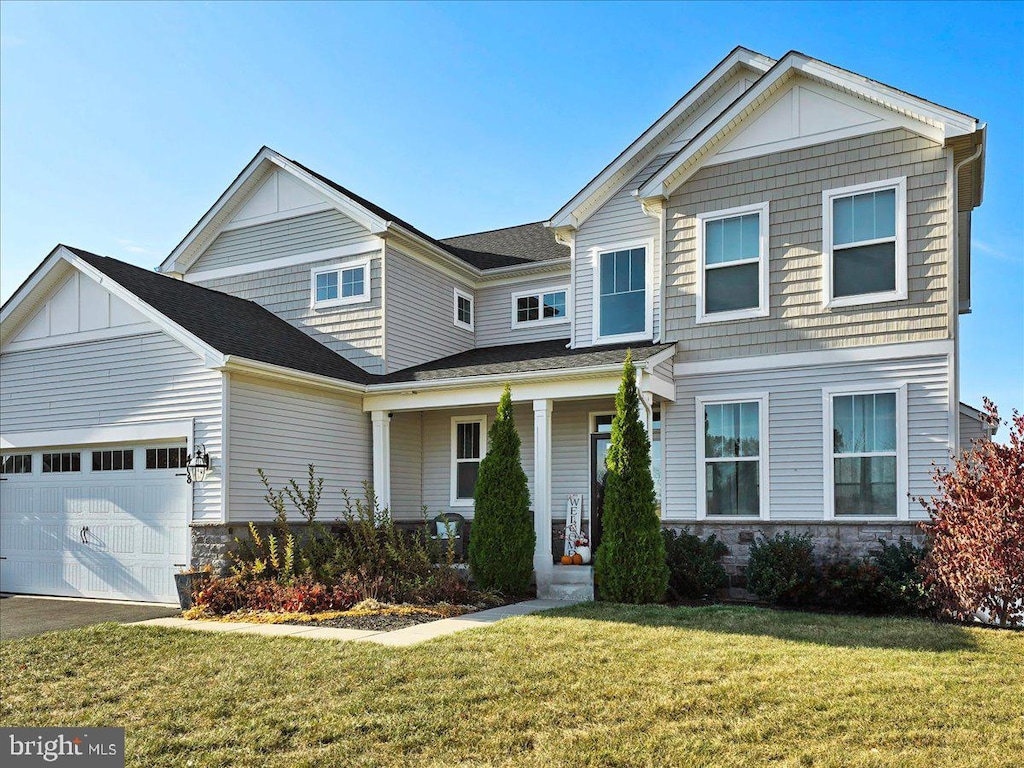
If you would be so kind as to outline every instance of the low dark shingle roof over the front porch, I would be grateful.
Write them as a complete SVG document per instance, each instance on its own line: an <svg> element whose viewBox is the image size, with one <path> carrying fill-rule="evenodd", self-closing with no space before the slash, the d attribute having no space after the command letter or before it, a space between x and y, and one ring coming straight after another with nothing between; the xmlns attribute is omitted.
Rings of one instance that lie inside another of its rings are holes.
<svg viewBox="0 0 1024 768"><path fill-rule="evenodd" d="M517 374L528 371L558 371L593 366L618 366L626 359L626 350L633 350L633 359L645 360L672 344L615 344L583 349L568 349L568 339L535 341L527 344L507 344L479 347L466 352L424 362L422 366L396 371L379 379L381 384L434 381L465 376Z"/></svg>

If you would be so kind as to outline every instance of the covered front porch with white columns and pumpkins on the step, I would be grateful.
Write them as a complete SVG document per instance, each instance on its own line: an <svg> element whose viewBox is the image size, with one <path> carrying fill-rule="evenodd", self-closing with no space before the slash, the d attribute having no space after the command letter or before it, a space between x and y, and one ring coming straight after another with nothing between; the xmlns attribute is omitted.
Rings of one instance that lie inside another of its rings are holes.
<svg viewBox="0 0 1024 768"><path fill-rule="evenodd" d="M543 357L534 357L506 364L509 370L504 371L494 371L494 364L485 373L460 366L459 376L437 376L452 370L437 368L451 366L453 358L446 358L421 370L418 379L385 385L387 391L375 388L364 408L372 417L373 479L381 507L396 520L420 520L424 510L431 518L459 514L471 537L476 471L486 455L487 429L508 382L537 534L538 596L592 597L590 565L556 563L564 552L560 534L570 497L582 498L583 530L592 541L599 536L599 482L626 348L602 349L597 355L593 349L577 351L580 356L588 354L591 365L512 370L544 365ZM664 401L674 398L675 387L667 376L671 366L663 365L672 352L672 345L634 350L645 422L658 447L657 414ZM567 356L561 353L558 360ZM654 464L657 475L659 456Z"/></svg>

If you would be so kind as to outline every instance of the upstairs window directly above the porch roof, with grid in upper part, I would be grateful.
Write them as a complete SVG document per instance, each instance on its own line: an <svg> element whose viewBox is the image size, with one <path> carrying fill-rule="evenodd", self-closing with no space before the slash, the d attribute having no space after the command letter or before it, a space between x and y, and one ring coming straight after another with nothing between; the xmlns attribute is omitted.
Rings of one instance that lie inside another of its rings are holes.
<svg viewBox="0 0 1024 768"><path fill-rule="evenodd" d="M595 341L624 341L651 335L650 245L598 251Z"/></svg>

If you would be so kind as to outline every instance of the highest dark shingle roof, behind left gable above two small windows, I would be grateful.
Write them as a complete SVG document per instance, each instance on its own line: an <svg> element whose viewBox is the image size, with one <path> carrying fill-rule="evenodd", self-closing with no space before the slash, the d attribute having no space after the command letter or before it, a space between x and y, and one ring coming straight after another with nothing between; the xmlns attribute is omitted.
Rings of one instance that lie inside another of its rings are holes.
<svg viewBox="0 0 1024 768"><path fill-rule="evenodd" d="M554 232L541 222L437 240L408 221L398 218L390 211L381 208L376 203L371 203L337 181L332 181L327 176L317 173L312 168L302 165L297 160L291 158L288 160L335 191L355 201L374 215L380 216L385 221L393 221L477 269L495 269L501 266L514 266L551 259L567 259L569 256L569 249L559 245L555 241Z"/></svg>

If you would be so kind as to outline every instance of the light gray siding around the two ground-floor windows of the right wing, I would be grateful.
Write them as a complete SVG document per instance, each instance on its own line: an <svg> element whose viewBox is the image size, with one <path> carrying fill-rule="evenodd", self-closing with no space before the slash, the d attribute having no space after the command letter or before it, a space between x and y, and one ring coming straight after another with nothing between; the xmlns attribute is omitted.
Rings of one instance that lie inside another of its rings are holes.
<svg viewBox="0 0 1024 768"><path fill-rule="evenodd" d="M949 451L949 369L945 356L869 364L677 378L676 402L665 408L666 519L696 516L695 398L730 393L769 395L770 506L773 520L824 518L822 388L883 382L907 384L907 461L911 497L929 496L932 462ZM923 516L909 503L911 519Z"/></svg>

